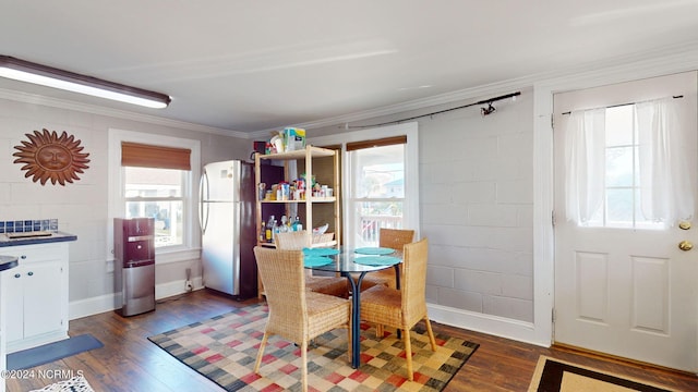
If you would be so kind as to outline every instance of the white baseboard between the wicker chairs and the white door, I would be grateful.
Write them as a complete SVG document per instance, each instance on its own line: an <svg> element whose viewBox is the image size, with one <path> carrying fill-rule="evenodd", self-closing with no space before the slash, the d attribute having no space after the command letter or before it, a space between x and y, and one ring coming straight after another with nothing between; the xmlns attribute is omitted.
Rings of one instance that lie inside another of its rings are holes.
<svg viewBox="0 0 698 392"><path fill-rule="evenodd" d="M535 338L534 326L531 322L483 315L442 305L426 304L426 307L429 309L429 318L432 321L543 347L550 347L551 345L550 341L541 342Z"/></svg>

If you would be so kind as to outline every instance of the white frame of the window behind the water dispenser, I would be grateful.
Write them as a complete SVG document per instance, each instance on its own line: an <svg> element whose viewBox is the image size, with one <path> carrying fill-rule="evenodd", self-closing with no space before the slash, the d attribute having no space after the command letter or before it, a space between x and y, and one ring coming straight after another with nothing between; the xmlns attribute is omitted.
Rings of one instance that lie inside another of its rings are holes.
<svg viewBox="0 0 698 392"><path fill-rule="evenodd" d="M148 134L125 130L109 130L109 192L107 219L107 260L113 260L113 219L125 216L127 197L124 194L124 170L121 166L121 143L139 143L154 146L186 148L191 150L189 175L184 175L183 198L184 216L182 218L182 245L156 248L156 264L179 262L198 258L201 249L200 235L195 224L198 199L196 181L201 177L201 142L157 134Z"/></svg>

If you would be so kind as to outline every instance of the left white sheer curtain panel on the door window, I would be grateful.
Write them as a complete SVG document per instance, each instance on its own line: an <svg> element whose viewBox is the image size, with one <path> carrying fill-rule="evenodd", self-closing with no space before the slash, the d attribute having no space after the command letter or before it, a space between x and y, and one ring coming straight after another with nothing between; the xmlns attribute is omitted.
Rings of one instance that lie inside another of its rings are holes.
<svg viewBox="0 0 698 392"><path fill-rule="evenodd" d="M573 111L565 134L567 220L585 225L603 206L605 109Z"/></svg>

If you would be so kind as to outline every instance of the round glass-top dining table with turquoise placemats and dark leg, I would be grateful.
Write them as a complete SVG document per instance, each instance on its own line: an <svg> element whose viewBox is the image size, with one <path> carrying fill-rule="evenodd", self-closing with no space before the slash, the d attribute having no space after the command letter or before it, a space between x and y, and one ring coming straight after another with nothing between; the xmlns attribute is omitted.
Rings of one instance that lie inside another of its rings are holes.
<svg viewBox="0 0 698 392"><path fill-rule="evenodd" d="M306 269L339 273L351 285L351 367L357 369L361 366L361 282L369 272L394 268L399 289L402 255L381 247L305 248L303 254Z"/></svg>

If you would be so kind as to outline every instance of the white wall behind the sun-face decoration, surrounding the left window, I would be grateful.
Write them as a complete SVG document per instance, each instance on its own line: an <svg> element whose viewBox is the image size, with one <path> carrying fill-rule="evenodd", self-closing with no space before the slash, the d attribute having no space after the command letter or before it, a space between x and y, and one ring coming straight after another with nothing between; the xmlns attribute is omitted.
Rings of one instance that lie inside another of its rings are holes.
<svg viewBox="0 0 698 392"><path fill-rule="evenodd" d="M0 99L0 220L59 220L59 230L77 235L70 244L71 318L109 310L113 307L113 274L108 271L108 130L119 128L198 139L202 166L227 159L246 159L252 142L201 132L192 125L167 121L124 120L87 111ZM22 164L13 163L14 146L27 140L25 134L47 128L59 135L65 131L81 140L88 152L89 168L80 181L61 186L45 185L24 177ZM196 182L197 179L194 179ZM197 233L197 225L195 233ZM196 234L200 235L200 234ZM200 281L198 258L156 267L158 297L184 291L185 269Z"/></svg>

